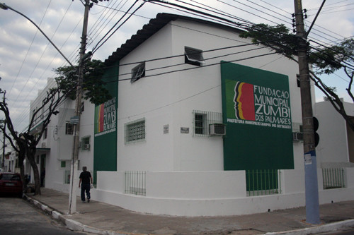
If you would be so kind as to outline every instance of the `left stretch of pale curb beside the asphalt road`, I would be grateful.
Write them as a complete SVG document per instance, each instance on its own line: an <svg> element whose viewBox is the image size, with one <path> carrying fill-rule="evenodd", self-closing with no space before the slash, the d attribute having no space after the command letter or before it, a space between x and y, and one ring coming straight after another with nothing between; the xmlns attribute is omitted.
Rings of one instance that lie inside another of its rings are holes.
<svg viewBox="0 0 354 235"><path fill-rule="evenodd" d="M27 200L28 203L32 203L35 207L38 207L40 210L44 211L47 215L50 215L52 219L57 220L58 222L62 222L62 224L72 231L84 231L91 234L99 234L99 235L149 235L149 234L134 234L122 231L106 231L103 229L97 229L95 227L91 227L85 224L81 224L73 219L67 219L62 215L62 213L57 212L56 210L50 208L49 206L41 203L38 200L30 198L27 194L23 193L23 199Z"/></svg>

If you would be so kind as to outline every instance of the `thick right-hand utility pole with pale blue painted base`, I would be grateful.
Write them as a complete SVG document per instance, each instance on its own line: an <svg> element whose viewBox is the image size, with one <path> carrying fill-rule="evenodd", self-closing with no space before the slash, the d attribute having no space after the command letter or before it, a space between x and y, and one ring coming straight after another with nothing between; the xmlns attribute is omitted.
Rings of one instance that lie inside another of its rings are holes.
<svg viewBox="0 0 354 235"><path fill-rule="evenodd" d="M294 0L296 35L299 40L297 56L299 57L299 80L302 103L302 129L304 133L304 171L306 222L319 224L319 187L317 181L317 163L314 138L314 118L312 114L309 64L307 62L307 34L304 31L302 1Z"/></svg>

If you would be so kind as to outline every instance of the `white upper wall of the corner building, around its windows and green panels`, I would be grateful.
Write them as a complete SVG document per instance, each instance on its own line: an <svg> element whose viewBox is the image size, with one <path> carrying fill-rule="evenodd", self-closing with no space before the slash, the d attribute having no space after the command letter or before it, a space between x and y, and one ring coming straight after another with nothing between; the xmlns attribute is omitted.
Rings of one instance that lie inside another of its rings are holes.
<svg viewBox="0 0 354 235"><path fill-rule="evenodd" d="M240 39L234 32L176 20L125 56L120 64L183 55L185 46L207 51L245 43L250 43L250 41ZM150 61L146 63L146 77L135 83L130 83L129 80L120 82L118 90L118 170L223 170L222 137L193 136L193 110L222 112L219 61L235 61L249 56L268 54L269 51L259 49L243 54L208 59L252 48L258 48L258 46L204 52L206 64L200 68L184 64L184 56ZM299 88L297 88L296 80L297 64L280 55L261 56L236 63L289 76L292 121L302 122ZM151 70L176 64L181 65ZM209 66L211 64L217 65ZM129 73L136 65L120 66L120 74L126 75L120 76L119 79L130 78ZM189 68L195 69L152 76L164 71ZM124 124L141 118L146 120L146 139L139 143L125 144ZM164 134L163 126L167 124L169 133ZM181 133L181 127L189 128L189 133ZM298 143L295 145L295 169L303 169L302 145Z"/></svg>

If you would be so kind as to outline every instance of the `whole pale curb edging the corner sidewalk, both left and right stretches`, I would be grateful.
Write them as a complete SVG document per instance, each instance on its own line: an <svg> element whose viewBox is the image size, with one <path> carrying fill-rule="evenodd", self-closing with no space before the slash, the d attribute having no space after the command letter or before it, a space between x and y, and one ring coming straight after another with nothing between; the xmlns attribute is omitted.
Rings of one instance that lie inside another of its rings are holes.
<svg viewBox="0 0 354 235"><path fill-rule="evenodd" d="M27 194L23 194L23 198L27 200L29 203L35 205L40 210L44 211L47 215L50 215L52 219L57 220L58 222L62 222L62 224L72 231L84 231L91 234L99 234L99 235L149 235L149 234L135 234L123 231L106 231L103 229L97 229L95 227L91 227L89 225L81 224L73 219L67 219L62 215L62 213L57 212L51 207L41 203L38 200L30 198ZM336 231L339 229L344 229L348 227L354 227L354 219L343 220L340 222L333 222L330 224L323 224L316 227L309 227L304 229L295 229L289 231L277 231L277 232L267 232L263 235L309 235L309 234L319 234L328 231Z"/></svg>

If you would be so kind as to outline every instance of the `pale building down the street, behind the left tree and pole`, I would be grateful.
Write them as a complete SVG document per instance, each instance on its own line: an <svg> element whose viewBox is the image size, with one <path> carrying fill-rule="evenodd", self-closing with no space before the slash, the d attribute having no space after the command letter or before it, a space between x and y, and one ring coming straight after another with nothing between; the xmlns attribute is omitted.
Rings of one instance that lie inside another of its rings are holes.
<svg viewBox="0 0 354 235"><path fill-rule="evenodd" d="M55 80L50 78L47 86L38 92L38 97L30 103L30 116L42 106L42 100L47 97L47 90L56 86ZM74 147L74 126L70 122L74 114L75 102L67 98L59 105L58 113L52 115L50 124L43 133L36 150L35 161L38 164L40 175L45 171L45 187L55 188L59 191L69 192L70 167L72 164L72 149ZM93 133L93 109L90 102L83 102L81 107L80 131L81 148L79 155L79 167L87 166L93 169L93 151L91 148ZM45 117L47 107L41 114L35 117L32 133L35 134L42 127L42 119ZM89 123L89 124L88 124ZM30 163L25 160L25 174L29 174L34 182Z"/></svg>

